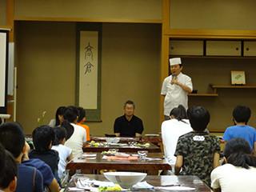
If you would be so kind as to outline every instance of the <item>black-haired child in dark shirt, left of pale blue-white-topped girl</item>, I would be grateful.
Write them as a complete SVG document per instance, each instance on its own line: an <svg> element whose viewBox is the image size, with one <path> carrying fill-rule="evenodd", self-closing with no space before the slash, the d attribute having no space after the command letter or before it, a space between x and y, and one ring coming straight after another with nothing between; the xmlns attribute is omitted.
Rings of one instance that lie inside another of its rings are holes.
<svg viewBox="0 0 256 192"><path fill-rule="evenodd" d="M54 128L50 126L38 126L32 132L32 138L34 143L34 150L30 151L30 158L39 158L43 162L46 162L54 174L54 178L58 178L58 151L51 150L52 143L54 142L55 134Z"/></svg>

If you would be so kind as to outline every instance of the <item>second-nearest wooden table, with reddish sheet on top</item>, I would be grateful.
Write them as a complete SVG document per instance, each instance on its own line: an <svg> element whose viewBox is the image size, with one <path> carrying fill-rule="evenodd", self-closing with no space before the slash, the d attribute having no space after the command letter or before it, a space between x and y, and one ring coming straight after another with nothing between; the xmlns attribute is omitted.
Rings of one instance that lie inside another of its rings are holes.
<svg viewBox="0 0 256 192"><path fill-rule="evenodd" d="M88 153L87 153L88 154ZM93 154L93 153L90 153ZM95 153L94 153L95 154ZM149 158L162 158L162 153L150 153ZM98 170L136 170L148 174L158 174L158 170L170 170L171 166L164 158L161 160L106 160L103 155L96 153L96 158L74 158L67 165L67 170L90 170L97 174ZM86 172L87 173L87 172Z"/></svg>

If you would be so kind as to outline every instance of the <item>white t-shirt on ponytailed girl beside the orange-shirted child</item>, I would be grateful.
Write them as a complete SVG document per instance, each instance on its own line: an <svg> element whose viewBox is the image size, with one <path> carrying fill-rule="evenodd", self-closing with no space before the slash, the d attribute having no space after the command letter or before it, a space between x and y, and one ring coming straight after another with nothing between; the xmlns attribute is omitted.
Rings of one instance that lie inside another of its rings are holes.
<svg viewBox="0 0 256 192"><path fill-rule="evenodd" d="M74 126L74 133L65 142L65 146L70 147L74 157L82 155L82 145L86 142L86 130L82 126L78 126L74 123L70 123Z"/></svg>

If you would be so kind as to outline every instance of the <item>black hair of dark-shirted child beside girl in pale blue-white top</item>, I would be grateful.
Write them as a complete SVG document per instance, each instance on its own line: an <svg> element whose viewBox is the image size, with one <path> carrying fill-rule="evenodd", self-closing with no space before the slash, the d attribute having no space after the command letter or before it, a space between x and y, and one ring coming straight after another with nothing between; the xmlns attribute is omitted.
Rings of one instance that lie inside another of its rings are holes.
<svg viewBox="0 0 256 192"><path fill-rule="evenodd" d="M49 150L51 142L54 142L54 129L50 126L38 126L32 132L34 149L38 151Z"/></svg>

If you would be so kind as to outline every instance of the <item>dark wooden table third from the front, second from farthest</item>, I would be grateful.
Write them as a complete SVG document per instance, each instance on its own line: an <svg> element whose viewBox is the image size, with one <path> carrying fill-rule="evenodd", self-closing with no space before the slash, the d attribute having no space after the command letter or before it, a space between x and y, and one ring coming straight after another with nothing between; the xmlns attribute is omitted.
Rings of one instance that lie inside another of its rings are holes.
<svg viewBox="0 0 256 192"><path fill-rule="evenodd" d="M119 152L125 152L125 153L137 153L138 150L147 150L149 153L161 152L161 148L159 146L154 145L153 143L150 143L150 146L145 147L145 146L129 146L126 143L117 143L117 144L113 144L113 145L111 144L108 146L90 146L89 143L85 142L82 146L83 152L101 153L102 151L106 151L110 149L118 149Z"/></svg>

